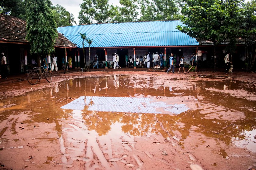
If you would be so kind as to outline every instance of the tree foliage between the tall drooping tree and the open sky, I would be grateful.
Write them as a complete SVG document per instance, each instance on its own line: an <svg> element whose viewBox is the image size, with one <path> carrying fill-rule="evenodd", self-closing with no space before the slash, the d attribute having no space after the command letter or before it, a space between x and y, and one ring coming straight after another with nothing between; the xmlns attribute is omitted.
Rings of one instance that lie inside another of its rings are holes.
<svg viewBox="0 0 256 170"><path fill-rule="evenodd" d="M73 14L66 11L61 5L52 6L52 13L57 26L73 25L72 22L76 24Z"/></svg>

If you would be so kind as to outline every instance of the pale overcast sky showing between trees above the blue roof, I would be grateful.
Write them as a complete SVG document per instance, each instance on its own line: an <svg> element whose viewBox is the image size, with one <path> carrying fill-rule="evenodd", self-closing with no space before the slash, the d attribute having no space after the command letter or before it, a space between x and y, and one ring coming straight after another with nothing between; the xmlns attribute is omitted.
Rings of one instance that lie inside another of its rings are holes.
<svg viewBox="0 0 256 170"><path fill-rule="evenodd" d="M79 24L79 19L78 19L78 12L81 10L80 9L80 4L83 3L83 0L51 0L53 5L61 5L66 10L73 14L75 17L76 24ZM109 0L109 5L113 4L115 5L120 5L119 0Z"/></svg>

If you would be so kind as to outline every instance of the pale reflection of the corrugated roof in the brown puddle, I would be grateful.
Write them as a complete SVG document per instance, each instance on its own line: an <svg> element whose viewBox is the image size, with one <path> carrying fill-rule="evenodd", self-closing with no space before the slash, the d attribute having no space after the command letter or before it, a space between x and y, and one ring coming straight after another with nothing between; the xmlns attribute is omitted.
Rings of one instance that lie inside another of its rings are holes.
<svg viewBox="0 0 256 170"><path fill-rule="evenodd" d="M85 96L81 96L76 100L62 106L62 109L84 110ZM125 113L155 113L162 114L161 110L180 114L187 111L189 108L185 104L168 105L164 102L151 102L149 98L137 97L98 97L87 96L86 105L92 99L93 104L88 107L91 111L105 111L105 112L125 112ZM164 114L164 113L163 113Z"/></svg>

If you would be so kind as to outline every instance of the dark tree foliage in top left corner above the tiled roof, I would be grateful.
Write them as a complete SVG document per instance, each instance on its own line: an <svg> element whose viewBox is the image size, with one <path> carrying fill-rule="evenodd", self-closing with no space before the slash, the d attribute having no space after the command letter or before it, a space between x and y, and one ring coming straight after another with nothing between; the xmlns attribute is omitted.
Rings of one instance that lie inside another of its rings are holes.
<svg viewBox="0 0 256 170"><path fill-rule="evenodd" d="M0 13L26 19L24 0L1 0Z"/></svg>

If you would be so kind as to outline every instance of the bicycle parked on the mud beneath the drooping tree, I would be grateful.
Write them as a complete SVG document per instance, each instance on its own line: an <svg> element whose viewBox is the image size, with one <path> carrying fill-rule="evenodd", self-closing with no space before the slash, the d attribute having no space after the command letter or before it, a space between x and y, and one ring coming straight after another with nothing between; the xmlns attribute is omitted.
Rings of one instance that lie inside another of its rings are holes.
<svg viewBox="0 0 256 170"><path fill-rule="evenodd" d="M42 78L45 78L49 83L52 82L52 75L47 70L42 69L42 67L44 67L44 66L33 67L33 70L27 70L27 72L28 72L27 81L30 84L32 84L32 85L36 84L37 81L38 80L40 81ZM37 70L44 70L44 71L43 71L43 73L41 75L39 75ZM44 77L43 77L43 75L44 75Z"/></svg>

